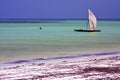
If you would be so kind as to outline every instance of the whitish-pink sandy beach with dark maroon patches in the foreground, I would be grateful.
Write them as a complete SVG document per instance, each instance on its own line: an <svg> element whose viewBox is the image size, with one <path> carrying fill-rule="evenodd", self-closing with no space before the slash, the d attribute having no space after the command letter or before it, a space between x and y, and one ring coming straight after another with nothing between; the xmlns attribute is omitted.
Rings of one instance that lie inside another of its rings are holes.
<svg viewBox="0 0 120 80"><path fill-rule="evenodd" d="M120 80L120 51L8 61L0 80Z"/></svg>

